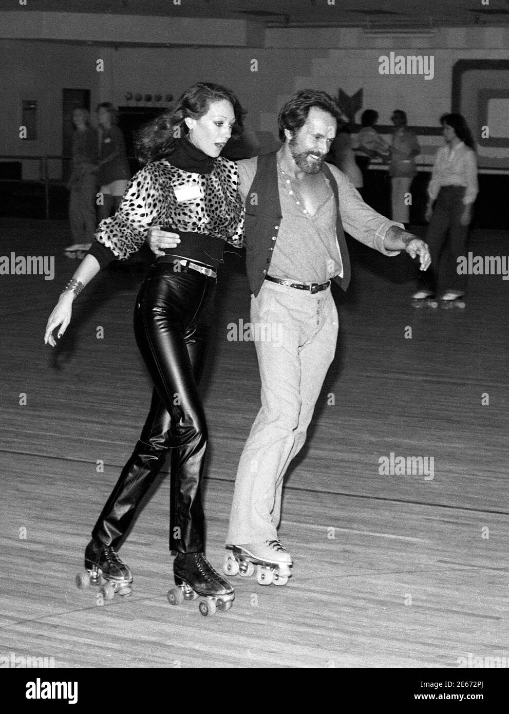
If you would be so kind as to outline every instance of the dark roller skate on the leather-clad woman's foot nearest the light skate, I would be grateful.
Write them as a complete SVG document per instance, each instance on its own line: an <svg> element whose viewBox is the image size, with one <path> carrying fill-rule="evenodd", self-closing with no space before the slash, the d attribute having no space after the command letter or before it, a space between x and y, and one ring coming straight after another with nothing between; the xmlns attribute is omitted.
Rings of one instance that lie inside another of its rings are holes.
<svg viewBox="0 0 509 714"><path fill-rule="evenodd" d="M176 588L168 590L170 605L180 605L183 600L197 600L201 614L215 615L216 610L229 610L235 592L224 578L216 573L203 553L178 553L173 560Z"/></svg>

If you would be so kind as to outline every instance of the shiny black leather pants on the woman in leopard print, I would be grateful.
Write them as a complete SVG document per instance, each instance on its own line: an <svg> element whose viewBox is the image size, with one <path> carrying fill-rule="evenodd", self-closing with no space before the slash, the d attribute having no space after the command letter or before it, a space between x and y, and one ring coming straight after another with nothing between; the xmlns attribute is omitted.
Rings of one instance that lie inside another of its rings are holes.
<svg viewBox="0 0 509 714"><path fill-rule="evenodd" d="M141 437L92 537L118 546L171 449L170 550L204 550L201 476L207 426L197 384L203 371L215 278L173 263L152 266L134 312L136 342L154 384Z"/></svg>

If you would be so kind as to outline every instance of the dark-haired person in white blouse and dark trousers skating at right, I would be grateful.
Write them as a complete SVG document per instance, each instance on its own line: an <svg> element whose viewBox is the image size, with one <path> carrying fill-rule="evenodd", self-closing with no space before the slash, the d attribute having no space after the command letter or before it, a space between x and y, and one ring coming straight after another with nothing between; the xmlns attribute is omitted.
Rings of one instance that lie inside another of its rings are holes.
<svg viewBox="0 0 509 714"><path fill-rule="evenodd" d="M440 293L443 301L459 300L465 293L466 276L458 275L458 256L465 255L472 205L478 194L477 156L468 124L461 114L440 117L445 146L438 149L428 186L429 221L426 242L431 268L419 276L414 299ZM434 204L434 205L433 205Z"/></svg>

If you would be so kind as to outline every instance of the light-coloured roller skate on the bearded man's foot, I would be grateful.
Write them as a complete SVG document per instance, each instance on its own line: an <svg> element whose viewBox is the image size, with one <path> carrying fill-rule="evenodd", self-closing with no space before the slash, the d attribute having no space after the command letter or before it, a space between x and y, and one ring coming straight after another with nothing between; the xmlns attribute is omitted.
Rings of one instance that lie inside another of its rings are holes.
<svg viewBox="0 0 509 714"><path fill-rule="evenodd" d="M286 585L291 578L293 561L290 553L279 540L265 540L248 545L227 545L231 553L226 555L223 571L226 575L241 575L249 578L255 572L260 585Z"/></svg>

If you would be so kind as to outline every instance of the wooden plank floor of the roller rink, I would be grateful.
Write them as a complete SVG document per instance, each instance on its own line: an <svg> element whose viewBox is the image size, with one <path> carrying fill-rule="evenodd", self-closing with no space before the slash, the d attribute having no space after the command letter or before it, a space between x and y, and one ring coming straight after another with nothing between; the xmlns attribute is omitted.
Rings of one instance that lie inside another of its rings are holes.
<svg viewBox="0 0 509 714"><path fill-rule="evenodd" d="M99 605L95 589L74 583L151 387L131 326L138 273L101 273L59 347L44 346L76 267L63 253L67 231L0 220L1 255L55 256L56 266L52 281L0 276L0 657L76 668L456 668L469 653L509 658L508 281L471 276L464 311L415 310L408 256L353 249L351 291L334 290L336 361L286 481L280 535L293 578L281 588L232 578L233 608L203 618L196 602L166 599L163 477L121 548L132 597ZM474 231L469 250L506 255L507 239ZM254 346L226 338L228 323L249 319L243 258L228 255L216 304L204 492L207 554L221 569L259 406ZM433 457L433 478L379 473L390 453Z"/></svg>

